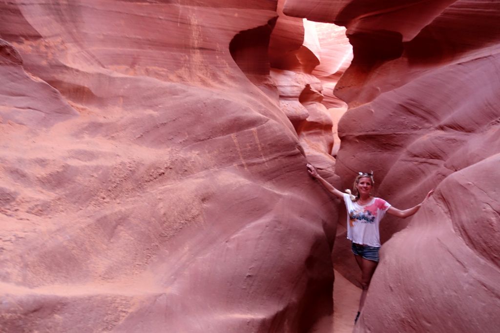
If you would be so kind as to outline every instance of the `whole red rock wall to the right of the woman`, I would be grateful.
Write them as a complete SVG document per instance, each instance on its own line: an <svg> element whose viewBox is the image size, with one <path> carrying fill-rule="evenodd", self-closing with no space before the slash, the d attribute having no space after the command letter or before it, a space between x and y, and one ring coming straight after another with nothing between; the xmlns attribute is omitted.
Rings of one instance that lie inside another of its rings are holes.
<svg viewBox="0 0 500 333"><path fill-rule="evenodd" d="M353 45L335 87L349 104L335 167L344 187L372 169L398 208L436 187L408 228L384 219L390 240L354 332L496 331L500 4L311 2L283 11L344 25Z"/></svg>

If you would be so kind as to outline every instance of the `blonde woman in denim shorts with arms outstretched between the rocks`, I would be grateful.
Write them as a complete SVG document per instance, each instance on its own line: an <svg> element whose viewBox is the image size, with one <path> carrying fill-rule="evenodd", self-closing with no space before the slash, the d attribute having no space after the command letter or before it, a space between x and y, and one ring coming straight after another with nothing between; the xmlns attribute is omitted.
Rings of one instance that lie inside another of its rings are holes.
<svg viewBox="0 0 500 333"><path fill-rule="evenodd" d="M342 193L335 189L317 173L312 165L307 164L306 166L309 174L317 179L328 192L343 199L347 209L347 238L352 242L352 253L361 269L362 292L355 323L359 318L371 277L378 264L378 251L380 250L378 225L380 220L385 213L403 219L415 214L434 190L430 190L420 204L406 210L399 210L385 200L372 196L374 185L372 173L359 172L354 180L353 194L351 194L349 190L346 190L347 193Z"/></svg>

